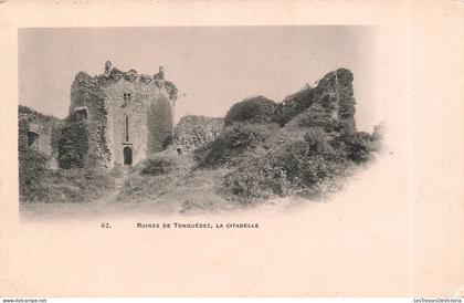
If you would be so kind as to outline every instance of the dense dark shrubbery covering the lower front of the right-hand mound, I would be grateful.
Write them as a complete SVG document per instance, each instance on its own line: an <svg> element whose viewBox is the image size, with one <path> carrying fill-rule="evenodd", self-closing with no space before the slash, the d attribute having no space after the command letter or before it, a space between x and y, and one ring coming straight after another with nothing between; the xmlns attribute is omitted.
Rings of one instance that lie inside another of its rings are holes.
<svg viewBox="0 0 464 303"><path fill-rule="evenodd" d="M240 203L275 196L324 196L341 186L356 165L367 163L376 140L366 133L333 137L319 129L245 159L228 174L224 192Z"/></svg>

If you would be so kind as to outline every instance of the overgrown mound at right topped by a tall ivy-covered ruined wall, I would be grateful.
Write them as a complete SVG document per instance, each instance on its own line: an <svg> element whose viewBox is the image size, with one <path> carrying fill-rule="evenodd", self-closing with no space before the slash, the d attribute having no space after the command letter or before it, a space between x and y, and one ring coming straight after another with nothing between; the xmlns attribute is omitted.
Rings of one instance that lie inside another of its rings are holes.
<svg viewBox="0 0 464 303"><path fill-rule="evenodd" d="M214 142L196 150L199 167L228 167L223 194L240 203L337 190L372 159L380 142L356 132L352 80L339 69L280 104L264 97L236 103L226 117L241 118L230 119Z"/></svg>

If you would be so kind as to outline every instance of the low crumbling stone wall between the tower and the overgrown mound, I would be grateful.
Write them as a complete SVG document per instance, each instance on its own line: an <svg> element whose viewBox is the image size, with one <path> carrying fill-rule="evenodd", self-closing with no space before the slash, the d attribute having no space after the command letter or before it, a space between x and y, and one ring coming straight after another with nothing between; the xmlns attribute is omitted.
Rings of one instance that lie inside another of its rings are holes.
<svg viewBox="0 0 464 303"><path fill-rule="evenodd" d="M175 142L186 152L192 152L214 140L224 126L223 118L183 116L175 128Z"/></svg>

